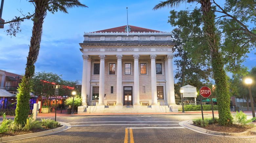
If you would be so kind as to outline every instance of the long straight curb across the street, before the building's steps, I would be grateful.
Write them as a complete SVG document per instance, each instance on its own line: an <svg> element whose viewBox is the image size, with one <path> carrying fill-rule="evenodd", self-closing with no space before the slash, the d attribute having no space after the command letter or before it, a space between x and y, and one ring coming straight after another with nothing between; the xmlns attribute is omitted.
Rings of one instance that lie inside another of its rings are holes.
<svg viewBox="0 0 256 143"><path fill-rule="evenodd" d="M166 115L202 115L202 114L96 114L96 115L71 115L69 117L79 117L79 116L166 116ZM208 113L203 113L203 115L209 115Z"/></svg>

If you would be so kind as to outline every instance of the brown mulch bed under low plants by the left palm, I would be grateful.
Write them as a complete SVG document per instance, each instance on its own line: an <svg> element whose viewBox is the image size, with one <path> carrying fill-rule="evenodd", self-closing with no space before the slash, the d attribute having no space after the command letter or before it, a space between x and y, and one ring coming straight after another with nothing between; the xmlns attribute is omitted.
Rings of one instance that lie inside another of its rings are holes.
<svg viewBox="0 0 256 143"><path fill-rule="evenodd" d="M58 126L61 127L62 125ZM57 127L57 128L58 128ZM42 127L43 129L40 128L32 128L29 131L23 131L23 130L19 130L19 131L14 131L14 132L7 132L7 133L0 133L0 137L8 137L8 136L14 136L14 135L24 135L24 134L30 134L30 133L37 133L37 132L42 132L42 131L46 131L46 130L51 130L50 128L46 128L46 127Z"/></svg>

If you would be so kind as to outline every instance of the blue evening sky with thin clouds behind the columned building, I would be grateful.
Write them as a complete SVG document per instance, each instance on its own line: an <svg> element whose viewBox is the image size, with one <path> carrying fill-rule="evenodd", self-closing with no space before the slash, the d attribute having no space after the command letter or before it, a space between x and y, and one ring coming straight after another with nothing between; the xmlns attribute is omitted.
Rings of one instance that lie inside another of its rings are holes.
<svg viewBox="0 0 256 143"><path fill-rule="evenodd" d="M68 9L69 14L57 12L47 13L43 23L43 35L35 71L62 74L64 80L82 79L82 53L79 43L83 42L84 32L119 27L127 24L126 7L128 7L128 24L148 29L171 32L174 27L167 23L171 8L153 11L159 0L80 0L89 8ZM181 5L177 10L185 9L189 4ZM33 5L25 0L5 0L2 19L11 20L34 10ZM21 24L22 31L16 37L7 36L0 29L0 69L23 74L26 57L29 52L33 23L25 20ZM243 64L249 69L255 66L256 56L249 54ZM174 69L176 67L174 66ZM175 71L174 71L175 72Z"/></svg>

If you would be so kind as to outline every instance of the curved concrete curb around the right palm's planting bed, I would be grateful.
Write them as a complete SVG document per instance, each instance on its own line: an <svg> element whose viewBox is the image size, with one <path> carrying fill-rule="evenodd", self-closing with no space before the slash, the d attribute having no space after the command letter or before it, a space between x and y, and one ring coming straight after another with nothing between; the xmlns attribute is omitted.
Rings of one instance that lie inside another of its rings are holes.
<svg viewBox="0 0 256 143"><path fill-rule="evenodd" d="M182 127L185 127L189 130L201 133L201 134L206 134L206 135L215 135L215 136L224 136L224 137L240 137L240 138L253 138L256 137L256 127L242 132L242 133L224 133L224 132L216 132L216 131L211 131L211 130L206 130L197 126L192 125L192 120L186 120L179 122L179 125ZM251 135L252 134L252 135Z"/></svg>

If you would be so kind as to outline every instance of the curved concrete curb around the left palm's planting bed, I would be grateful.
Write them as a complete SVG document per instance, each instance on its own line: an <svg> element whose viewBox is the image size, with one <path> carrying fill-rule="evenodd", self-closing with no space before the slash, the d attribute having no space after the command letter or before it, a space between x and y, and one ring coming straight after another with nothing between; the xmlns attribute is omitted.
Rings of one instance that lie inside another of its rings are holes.
<svg viewBox="0 0 256 143"><path fill-rule="evenodd" d="M25 138L31 138L31 137L36 137L36 136L42 136L42 135L49 135L53 133L58 133L61 131L66 131L71 128L71 125L69 123L65 122L59 122L62 127L51 129L51 130L46 130L42 132L37 132L37 133L30 133L30 134L24 134L24 135L15 135L15 136L8 136L8 137L1 137L1 142L6 142L6 141L12 141L12 140L19 140L19 139L25 139Z"/></svg>

